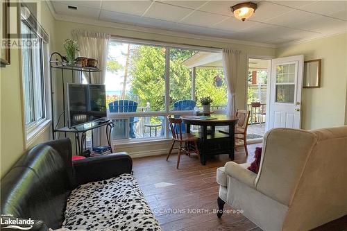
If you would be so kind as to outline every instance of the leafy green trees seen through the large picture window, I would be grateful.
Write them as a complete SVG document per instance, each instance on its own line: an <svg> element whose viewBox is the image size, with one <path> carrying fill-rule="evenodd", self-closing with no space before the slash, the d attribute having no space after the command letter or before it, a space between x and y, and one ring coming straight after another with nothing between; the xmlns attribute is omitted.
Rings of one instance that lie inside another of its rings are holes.
<svg viewBox="0 0 347 231"><path fill-rule="evenodd" d="M129 47L128 47L129 48ZM130 56L128 54L130 53ZM165 99L165 48L158 46L131 45L127 55L128 63L124 67L127 76L124 83L130 84L128 92L123 92L127 99L136 101L139 107L149 102L152 111L164 110ZM187 58L196 51L170 49L170 105L181 99L192 98L192 69L183 65ZM123 67L122 67L123 68ZM223 77L222 69L196 69L196 96L210 96L212 105L226 105L226 83L215 85L215 77Z"/></svg>

